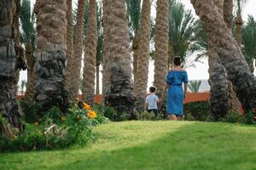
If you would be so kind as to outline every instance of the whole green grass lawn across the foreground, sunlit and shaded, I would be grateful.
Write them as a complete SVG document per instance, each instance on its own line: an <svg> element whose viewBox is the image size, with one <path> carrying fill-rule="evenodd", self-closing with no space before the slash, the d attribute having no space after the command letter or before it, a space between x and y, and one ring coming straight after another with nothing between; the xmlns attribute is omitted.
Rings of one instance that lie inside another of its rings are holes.
<svg viewBox="0 0 256 170"><path fill-rule="evenodd" d="M86 148L0 154L0 169L256 169L256 127L113 122Z"/></svg>

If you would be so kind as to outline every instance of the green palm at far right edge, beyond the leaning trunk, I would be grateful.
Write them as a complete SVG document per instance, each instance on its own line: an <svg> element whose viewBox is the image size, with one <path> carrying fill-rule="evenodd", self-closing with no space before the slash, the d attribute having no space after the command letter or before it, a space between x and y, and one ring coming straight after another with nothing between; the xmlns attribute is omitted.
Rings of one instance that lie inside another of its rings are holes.
<svg viewBox="0 0 256 170"><path fill-rule="evenodd" d="M247 59L252 72L254 72L253 61L256 58L256 21L252 15L248 16L246 26L242 28L242 52Z"/></svg>

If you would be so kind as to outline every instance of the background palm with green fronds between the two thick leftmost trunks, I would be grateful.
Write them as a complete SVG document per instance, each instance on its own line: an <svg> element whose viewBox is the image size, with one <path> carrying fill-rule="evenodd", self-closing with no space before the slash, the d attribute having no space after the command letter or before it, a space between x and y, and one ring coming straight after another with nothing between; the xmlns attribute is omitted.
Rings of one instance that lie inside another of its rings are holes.
<svg viewBox="0 0 256 170"><path fill-rule="evenodd" d="M35 95L36 72L34 69L35 59L33 52L35 50L36 28L34 27L35 18L31 13L30 0L23 0L20 7L20 22L21 22L21 42L25 44L27 69L27 88L25 99L32 102Z"/></svg>

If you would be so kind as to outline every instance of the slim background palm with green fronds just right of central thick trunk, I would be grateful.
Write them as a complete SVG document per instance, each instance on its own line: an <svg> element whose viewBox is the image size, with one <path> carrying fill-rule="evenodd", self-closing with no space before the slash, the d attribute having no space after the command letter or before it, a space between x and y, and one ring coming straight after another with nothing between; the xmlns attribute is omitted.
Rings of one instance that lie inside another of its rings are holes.
<svg viewBox="0 0 256 170"><path fill-rule="evenodd" d="M132 37L132 49L133 49L133 79L134 86L137 84L137 67L139 57L139 33L140 33L140 18L141 18L141 0L126 0L127 4L127 16L131 22L131 29L134 32Z"/></svg>

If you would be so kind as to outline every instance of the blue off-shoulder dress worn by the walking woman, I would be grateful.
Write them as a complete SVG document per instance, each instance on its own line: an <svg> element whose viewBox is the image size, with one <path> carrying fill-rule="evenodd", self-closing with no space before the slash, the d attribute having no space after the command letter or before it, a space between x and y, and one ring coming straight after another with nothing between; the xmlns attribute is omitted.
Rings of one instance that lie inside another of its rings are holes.
<svg viewBox="0 0 256 170"><path fill-rule="evenodd" d="M168 115L183 116L183 82L189 82L186 71L169 71L166 77L169 84L166 100Z"/></svg>

